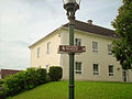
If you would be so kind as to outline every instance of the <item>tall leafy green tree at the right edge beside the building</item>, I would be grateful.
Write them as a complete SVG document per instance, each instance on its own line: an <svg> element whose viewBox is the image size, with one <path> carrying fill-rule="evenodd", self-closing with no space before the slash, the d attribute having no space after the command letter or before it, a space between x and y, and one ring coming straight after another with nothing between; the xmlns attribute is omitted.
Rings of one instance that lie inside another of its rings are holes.
<svg viewBox="0 0 132 99"><path fill-rule="evenodd" d="M112 53L123 69L132 68L132 0L123 0L119 15L112 22L120 38L113 41Z"/></svg>

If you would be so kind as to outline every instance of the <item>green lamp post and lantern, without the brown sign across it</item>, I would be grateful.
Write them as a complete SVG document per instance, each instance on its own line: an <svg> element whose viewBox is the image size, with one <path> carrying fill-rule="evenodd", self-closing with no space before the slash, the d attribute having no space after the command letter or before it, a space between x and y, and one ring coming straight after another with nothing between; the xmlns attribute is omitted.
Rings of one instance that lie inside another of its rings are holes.
<svg viewBox="0 0 132 99"><path fill-rule="evenodd" d="M75 12L79 9L80 0L63 0L64 9L67 11L69 20L69 46L74 46L74 21ZM69 52L69 99L74 99L74 56L75 52Z"/></svg>

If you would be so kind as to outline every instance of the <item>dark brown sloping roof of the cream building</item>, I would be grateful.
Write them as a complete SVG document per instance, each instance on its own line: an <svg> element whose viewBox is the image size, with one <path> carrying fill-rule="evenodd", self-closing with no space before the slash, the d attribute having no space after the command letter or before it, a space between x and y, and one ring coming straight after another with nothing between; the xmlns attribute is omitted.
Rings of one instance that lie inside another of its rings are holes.
<svg viewBox="0 0 132 99"><path fill-rule="evenodd" d="M94 25L92 23L89 24L86 22L75 20L74 24L75 24L75 29L79 31L90 32L94 34L99 34L99 35L109 36L109 37L118 37L118 35L114 33L113 30L97 26L97 25ZM68 28L68 23L64 24L63 26Z"/></svg>

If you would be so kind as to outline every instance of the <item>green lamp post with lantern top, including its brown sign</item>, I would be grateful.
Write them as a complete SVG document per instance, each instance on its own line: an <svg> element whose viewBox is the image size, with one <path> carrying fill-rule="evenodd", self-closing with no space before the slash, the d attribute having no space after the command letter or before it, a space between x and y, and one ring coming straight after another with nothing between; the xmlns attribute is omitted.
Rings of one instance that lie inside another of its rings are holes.
<svg viewBox="0 0 132 99"><path fill-rule="evenodd" d="M74 21L75 12L79 9L80 0L63 0L64 9L67 11L67 18L69 20L69 45L61 45L59 52L68 53L69 55L69 99L74 99L74 56L75 53L85 52L85 46L74 45Z"/></svg>

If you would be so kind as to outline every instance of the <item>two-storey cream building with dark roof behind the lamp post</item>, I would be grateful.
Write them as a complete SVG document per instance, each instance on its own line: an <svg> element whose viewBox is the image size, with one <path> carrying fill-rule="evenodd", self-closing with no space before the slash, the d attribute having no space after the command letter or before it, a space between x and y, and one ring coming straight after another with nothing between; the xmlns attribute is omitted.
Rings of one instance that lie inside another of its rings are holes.
<svg viewBox="0 0 132 99"><path fill-rule="evenodd" d="M30 46L31 67L50 66L63 68L63 79L68 79L68 54L58 54L59 45L69 44L68 23ZM117 38L112 30L75 21L75 45L86 46L86 52L75 55L76 80L132 81L132 72L127 75L111 53L112 41Z"/></svg>

